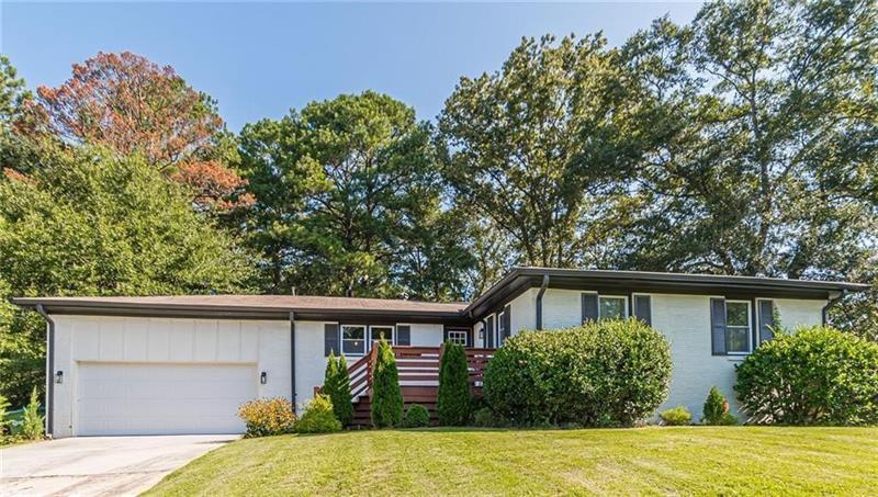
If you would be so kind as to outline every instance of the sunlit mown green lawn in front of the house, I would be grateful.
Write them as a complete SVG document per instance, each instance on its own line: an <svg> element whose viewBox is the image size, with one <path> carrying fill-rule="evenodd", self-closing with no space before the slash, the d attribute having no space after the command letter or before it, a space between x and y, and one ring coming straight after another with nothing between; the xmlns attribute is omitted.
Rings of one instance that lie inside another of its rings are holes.
<svg viewBox="0 0 878 497"><path fill-rule="evenodd" d="M878 489L878 428L397 430L240 440L155 495L847 494Z"/></svg>

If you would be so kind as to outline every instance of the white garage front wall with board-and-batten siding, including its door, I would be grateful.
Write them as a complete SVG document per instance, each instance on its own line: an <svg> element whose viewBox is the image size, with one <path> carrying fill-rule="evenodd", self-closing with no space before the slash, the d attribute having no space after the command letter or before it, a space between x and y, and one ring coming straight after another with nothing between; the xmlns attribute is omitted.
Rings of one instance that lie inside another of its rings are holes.
<svg viewBox="0 0 878 497"><path fill-rule="evenodd" d="M288 321L53 318L55 438L243 432L241 403L290 397Z"/></svg>

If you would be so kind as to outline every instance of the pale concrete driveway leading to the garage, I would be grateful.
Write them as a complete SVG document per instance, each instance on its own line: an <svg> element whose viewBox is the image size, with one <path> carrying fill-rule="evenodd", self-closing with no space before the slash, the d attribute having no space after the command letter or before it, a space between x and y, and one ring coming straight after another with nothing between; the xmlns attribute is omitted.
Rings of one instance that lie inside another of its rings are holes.
<svg viewBox="0 0 878 497"><path fill-rule="evenodd" d="M237 438L87 437L0 449L0 495L135 495Z"/></svg>

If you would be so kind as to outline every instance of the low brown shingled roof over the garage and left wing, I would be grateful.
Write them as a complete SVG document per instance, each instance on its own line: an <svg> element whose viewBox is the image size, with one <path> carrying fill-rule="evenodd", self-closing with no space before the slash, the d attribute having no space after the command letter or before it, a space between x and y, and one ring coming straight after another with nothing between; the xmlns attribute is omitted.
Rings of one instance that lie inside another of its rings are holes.
<svg viewBox="0 0 878 497"><path fill-rule="evenodd" d="M13 298L24 307L37 304L63 307L151 307L151 308L252 308L271 310L346 310L451 313L466 307L465 303L443 304L384 298L325 297L305 295L173 295L144 297L34 297Z"/></svg>

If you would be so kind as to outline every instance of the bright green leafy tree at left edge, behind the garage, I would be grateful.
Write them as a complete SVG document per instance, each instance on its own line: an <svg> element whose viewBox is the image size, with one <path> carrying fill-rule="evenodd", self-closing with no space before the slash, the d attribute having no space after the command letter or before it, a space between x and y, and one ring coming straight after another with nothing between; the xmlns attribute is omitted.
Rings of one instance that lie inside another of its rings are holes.
<svg viewBox="0 0 878 497"><path fill-rule="evenodd" d="M0 179L0 293L157 295L240 290L240 251L187 192L139 156L46 149L29 177ZM0 319L1 320L1 319ZM0 326L0 393L44 384L45 324L15 312Z"/></svg>

